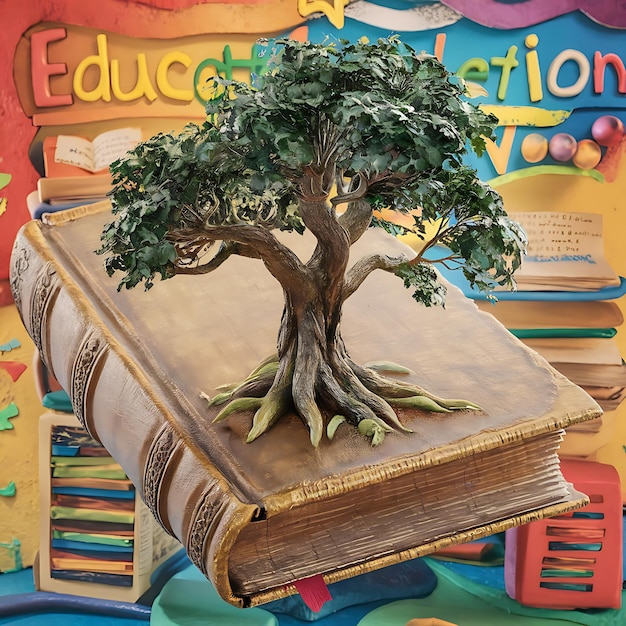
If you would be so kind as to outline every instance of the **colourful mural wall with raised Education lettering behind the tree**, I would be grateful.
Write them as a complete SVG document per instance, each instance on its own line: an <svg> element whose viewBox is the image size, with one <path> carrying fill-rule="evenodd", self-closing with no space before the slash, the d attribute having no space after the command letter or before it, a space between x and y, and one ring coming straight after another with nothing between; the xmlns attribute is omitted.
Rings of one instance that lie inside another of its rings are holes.
<svg viewBox="0 0 626 626"><path fill-rule="evenodd" d="M532 134L547 141L567 133L580 142L592 139L598 117L626 120L626 5L617 0L0 0L0 17L5 25L0 39L0 304L5 311L0 312L6 313L6 341L18 336L22 341L21 354L3 352L5 361L28 362L32 353L19 320L9 314L7 279L13 239L31 218L26 199L44 174L43 139L59 133L93 138L126 125L139 125L149 135L201 119L202 79L217 69L252 80L251 70L262 67L255 48L260 37L373 40L397 33L414 48L436 54L465 76L474 101L501 120L498 141L473 164L503 194L506 208L601 214L607 260L617 274L626 275L624 140L603 146L602 161L584 168L549 153L529 161L523 150ZM45 40L54 29L63 36ZM42 36L47 43L34 54L32 42L41 44ZM106 41L106 54L99 41ZM147 68L143 82L140 58ZM163 66L165 90L157 85L164 58L169 59ZM114 64L118 87L127 96L107 101ZM76 82L81 67L85 73ZM128 96L137 85L143 92ZM35 101L37 89L44 105ZM618 303L624 310L623 297ZM618 332L616 340L626 354L626 333ZM17 486L14 495L0 495L0 542L19 539L20 563L28 565L37 529L24 527L20 503L27 510L36 503L33 437L39 407L30 371L19 385L8 378L4 383L5 406L15 403L19 415L10 435L0 432L0 487L11 481ZM571 445L577 454L614 464L626 483L623 411L610 412L601 432ZM7 555L0 569L18 566L14 553Z"/></svg>

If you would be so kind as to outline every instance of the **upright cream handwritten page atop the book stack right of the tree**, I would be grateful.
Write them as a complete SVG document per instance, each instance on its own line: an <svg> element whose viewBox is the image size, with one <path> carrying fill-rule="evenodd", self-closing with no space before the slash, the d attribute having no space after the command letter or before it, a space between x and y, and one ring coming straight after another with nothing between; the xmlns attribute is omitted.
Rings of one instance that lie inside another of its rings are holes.
<svg viewBox="0 0 626 626"><path fill-rule="evenodd" d="M585 290L619 284L604 256L599 213L511 213L528 235L520 288ZM542 287L543 285L543 287Z"/></svg>

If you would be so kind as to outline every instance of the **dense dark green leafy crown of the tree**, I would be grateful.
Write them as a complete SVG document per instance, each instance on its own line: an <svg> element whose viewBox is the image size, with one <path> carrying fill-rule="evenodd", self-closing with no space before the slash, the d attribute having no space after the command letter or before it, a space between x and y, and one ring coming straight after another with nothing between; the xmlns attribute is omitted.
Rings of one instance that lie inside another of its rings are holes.
<svg viewBox="0 0 626 626"><path fill-rule="evenodd" d="M110 273L126 272L121 286L151 287L156 274L201 262L204 246L183 250L172 237L199 222L302 232L298 195L328 196L333 185L333 206L361 196L372 209L411 212L417 234L442 221L429 246L448 247L481 289L513 285L524 234L462 161L468 145L482 154L496 120L463 98L462 81L394 38L266 45L275 56L261 89L215 77L205 124L156 135L113 165L118 219L103 251ZM299 189L307 168L323 172L320 189Z"/></svg>

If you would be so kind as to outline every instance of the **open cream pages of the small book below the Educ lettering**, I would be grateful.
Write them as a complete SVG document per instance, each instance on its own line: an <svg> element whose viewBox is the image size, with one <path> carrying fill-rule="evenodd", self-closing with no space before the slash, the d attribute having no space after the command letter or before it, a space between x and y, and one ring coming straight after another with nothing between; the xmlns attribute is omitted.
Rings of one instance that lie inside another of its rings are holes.
<svg viewBox="0 0 626 626"><path fill-rule="evenodd" d="M139 128L116 128L101 133L93 141L74 135L59 135L54 160L92 173L99 172L123 157L140 141Z"/></svg>

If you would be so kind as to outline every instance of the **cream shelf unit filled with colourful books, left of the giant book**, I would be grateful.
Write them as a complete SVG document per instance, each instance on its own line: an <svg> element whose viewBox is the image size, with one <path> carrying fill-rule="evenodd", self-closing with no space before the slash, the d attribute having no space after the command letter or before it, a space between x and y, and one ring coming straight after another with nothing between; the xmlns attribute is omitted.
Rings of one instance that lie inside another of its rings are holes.
<svg viewBox="0 0 626 626"><path fill-rule="evenodd" d="M73 414L41 416L39 476L40 591L135 602L182 550Z"/></svg>

